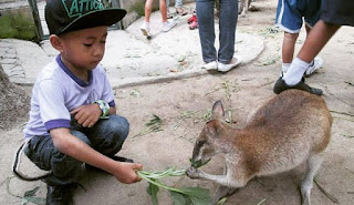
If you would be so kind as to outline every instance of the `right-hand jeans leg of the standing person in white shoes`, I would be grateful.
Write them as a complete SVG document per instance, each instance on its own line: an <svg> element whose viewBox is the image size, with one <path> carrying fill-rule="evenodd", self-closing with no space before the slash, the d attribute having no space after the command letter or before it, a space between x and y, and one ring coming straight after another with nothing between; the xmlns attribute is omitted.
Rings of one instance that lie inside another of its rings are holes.
<svg viewBox="0 0 354 205"><path fill-rule="evenodd" d="M197 11L198 14L198 11ZM238 20L238 1L220 0L218 61L229 63L235 53L235 33Z"/></svg>

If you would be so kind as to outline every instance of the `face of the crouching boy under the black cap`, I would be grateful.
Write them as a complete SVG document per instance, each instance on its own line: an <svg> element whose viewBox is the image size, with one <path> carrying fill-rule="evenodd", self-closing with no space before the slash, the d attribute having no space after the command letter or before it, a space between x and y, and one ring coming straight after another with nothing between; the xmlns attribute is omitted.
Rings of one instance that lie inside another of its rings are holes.
<svg viewBox="0 0 354 205"><path fill-rule="evenodd" d="M69 69L93 70L103 58L106 37L107 27L72 31L59 37L62 60Z"/></svg>

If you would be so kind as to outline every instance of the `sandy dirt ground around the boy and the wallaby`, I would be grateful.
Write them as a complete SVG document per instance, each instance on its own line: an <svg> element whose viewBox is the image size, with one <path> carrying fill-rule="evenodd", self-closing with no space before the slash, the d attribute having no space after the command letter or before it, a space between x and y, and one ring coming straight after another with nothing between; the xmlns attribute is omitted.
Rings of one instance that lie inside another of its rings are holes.
<svg viewBox="0 0 354 205"><path fill-rule="evenodd" d="M212 103L222 100L232 114L236 127L244 125L248 113L262 101L273 98L274 81L281 69L282 32L273 30L275 0L258 0L259 9L239 18L238 31L263 38L266 50L253 62L226 74L208 74L167 83L148 84L115 90L118 113L131 122L131 134L121 155L142 163L146 171L162 171L168 166L184 168L189 165L194 142L206 123L205 116ZM304 40L299 38L299 49ZM320 53L323 69L306 80L324 90L332 115L332 141L316 181L339 204L354 204L354 29L344 27ZM153 114L163 121L160 132L144 133ZM0 137L0 204L20 204L27 191L39 186L37 196L45 197L45 184L12 178L13 153L21 144L22 124L11 131L2 131ZM206 172L220 173L222 156L217 156L204 167ZM299 185L304 172L300 166L291 172L253 180L232 196L226 205L298 205L301 203ZM216 184L175 177L164 181L171 186L201 186L214 193ZM146 205L152 204L146 194L146 182L133 185L118 183L104 173L84 172L82 184L75 193L77 205ZM12 195L11 195L12 194ZM317 186L312 189L312 204L334 204ZM162 205L171 204L168 193L158 194ZM30 203L29 203L30 204Z"/></svg>

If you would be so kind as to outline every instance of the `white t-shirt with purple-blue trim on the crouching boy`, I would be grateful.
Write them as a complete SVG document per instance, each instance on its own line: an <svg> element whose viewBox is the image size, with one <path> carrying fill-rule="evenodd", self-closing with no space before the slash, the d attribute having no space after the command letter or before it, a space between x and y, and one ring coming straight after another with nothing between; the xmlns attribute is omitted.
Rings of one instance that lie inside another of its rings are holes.
<svg viewBox="0 0 354 205"><path fill-rule="evenodd" d="M76 78L58 55L39 74L32 90L30 120L25 137L49 135L58 127L70 127L70 112L81 105L103 100L115 106L112 88L101 65L88 71L88 82Z"/></svg>

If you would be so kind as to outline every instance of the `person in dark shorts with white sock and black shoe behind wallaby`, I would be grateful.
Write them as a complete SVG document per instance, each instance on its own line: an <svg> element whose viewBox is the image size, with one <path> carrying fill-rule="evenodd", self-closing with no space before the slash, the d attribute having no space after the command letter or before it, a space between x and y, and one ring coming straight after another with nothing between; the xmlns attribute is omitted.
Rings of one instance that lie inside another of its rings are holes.
<svg viewBox="0 0 354 205"><path fill-rule="evenodd" d="M321 89L309 86L302 76L311 61L330 41L341 25L354 27L354 1L322 0L320 21L313 27L298 57L292 61L288 72L279 78L273 91L279 94L288 89L298 89L322 95Z"/></svg>

